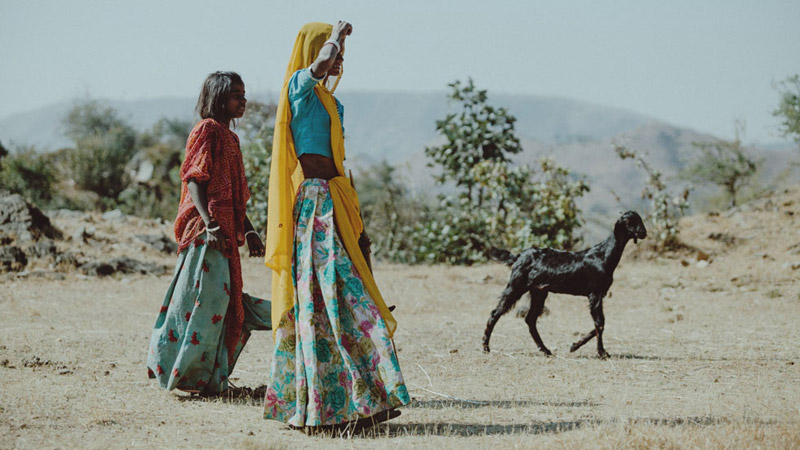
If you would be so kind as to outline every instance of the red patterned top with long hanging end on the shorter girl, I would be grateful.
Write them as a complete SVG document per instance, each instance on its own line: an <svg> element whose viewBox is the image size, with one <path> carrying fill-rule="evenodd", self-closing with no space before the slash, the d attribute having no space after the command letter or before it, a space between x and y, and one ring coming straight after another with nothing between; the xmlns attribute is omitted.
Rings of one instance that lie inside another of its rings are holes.
<svg viewBox="0 0 800 450"><path fill-rule="evenodd" d="M208 183L208 212L229 238L225 257L228 258L232 289L229 293L228 313L225 315L225 322L228 324L225 344L228 346L228 355L232 358L241 339L244 322L242 264L238 247L245 242L245 204L250 198L250 190L244 174L239 137L226 125L214 119L201 120L194 126L186 141L186 158L181 165L181 201L178 217L175 218L178 253L192 244L206 229L189 195L187 181L191 178Z"/></svg>

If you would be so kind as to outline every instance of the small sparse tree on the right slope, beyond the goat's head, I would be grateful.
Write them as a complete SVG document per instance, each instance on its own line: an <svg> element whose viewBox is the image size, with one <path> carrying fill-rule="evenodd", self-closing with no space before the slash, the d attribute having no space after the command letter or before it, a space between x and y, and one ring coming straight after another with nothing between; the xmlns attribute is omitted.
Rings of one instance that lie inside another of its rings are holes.
<svg viewBox="0 0 800 450"><path fill-rule="evenodd" d="M713 183L722 187L729 206L736 206L736 196L758 171L762 160L748 154L740 139L741 126L731 141L693 142L700 150L697 159L684 171L684 176L698 183Z"/></svg>

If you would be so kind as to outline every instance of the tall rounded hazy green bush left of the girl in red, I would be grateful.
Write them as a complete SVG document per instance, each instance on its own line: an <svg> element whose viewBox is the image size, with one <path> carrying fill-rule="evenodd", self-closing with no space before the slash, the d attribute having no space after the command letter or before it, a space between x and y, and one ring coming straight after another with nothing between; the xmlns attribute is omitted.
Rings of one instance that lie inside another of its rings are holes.
<svg viewBox="0 0 800 450"><path fill-rule="evenodd" d="M75 105L65 120L72 179L81 188L113 203L126 188L125 166L136 152L136 132L116 110L89 100Z"/></svg>

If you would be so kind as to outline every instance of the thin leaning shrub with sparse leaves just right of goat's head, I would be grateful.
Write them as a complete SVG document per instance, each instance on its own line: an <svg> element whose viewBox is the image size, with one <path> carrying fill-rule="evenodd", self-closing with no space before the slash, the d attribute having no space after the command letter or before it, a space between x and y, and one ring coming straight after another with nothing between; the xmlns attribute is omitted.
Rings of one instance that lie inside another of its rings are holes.
<svg viewBox="0 0 800 450"><path fill-rule="evenodd" d="M619 144L614 144L614 150L620 159L634 160L647 174L642 198L650 201L650 211L646 219L651 223L649 235L654 239L655 247L659 250L680 247L680 219L689 208L689 190L684 189L677 195L670 193L661 172L653 169L641 153Z"/></svg>

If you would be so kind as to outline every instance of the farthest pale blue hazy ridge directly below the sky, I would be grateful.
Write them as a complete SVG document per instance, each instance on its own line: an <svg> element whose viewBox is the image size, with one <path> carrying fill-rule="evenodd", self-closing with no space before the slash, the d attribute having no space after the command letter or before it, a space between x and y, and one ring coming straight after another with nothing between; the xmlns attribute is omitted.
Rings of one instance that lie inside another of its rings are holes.
<svg viewBox="0 0 800 450"><path fill-rule="evenodd" d="M444 92L341 92L345 105L347 149L350 155L400 162L437 137L436 120L448 110ZM275 95L254 97L274 101ZM505 106L518 119L523 139L565 144L602 139L633 129L652 118L576 100L490 95L493 105ZM138 129L162 117L190 120L195 99L158 98L107 102ZM73 102L62 102L0 120L0 141L34 145L41 151L69 145L63 118Z"/></svg>

